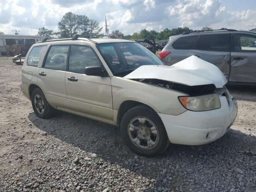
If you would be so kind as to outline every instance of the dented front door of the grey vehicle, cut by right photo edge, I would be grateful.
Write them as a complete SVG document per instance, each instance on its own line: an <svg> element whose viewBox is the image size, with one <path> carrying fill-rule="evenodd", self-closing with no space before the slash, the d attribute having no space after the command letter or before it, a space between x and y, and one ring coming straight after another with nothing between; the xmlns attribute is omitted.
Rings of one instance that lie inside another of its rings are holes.
<svg viewBox="0 0 256 192"><path fill-rule="evenodd" d="M231 82L256 83L256 36L232 35Z"/></svg>

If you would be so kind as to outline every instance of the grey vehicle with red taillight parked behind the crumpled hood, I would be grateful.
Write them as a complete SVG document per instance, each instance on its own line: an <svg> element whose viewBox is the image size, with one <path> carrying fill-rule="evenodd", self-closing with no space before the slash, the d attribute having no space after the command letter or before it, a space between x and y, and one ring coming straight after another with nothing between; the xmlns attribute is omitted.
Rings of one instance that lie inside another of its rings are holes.
<svg viewBox="0 0 256 192"><path fill-rule="evenodd" d="M159 57L172 65L191 55L216 65L229 82L256 83L256 33L222 28L172 36Z"/></svg>

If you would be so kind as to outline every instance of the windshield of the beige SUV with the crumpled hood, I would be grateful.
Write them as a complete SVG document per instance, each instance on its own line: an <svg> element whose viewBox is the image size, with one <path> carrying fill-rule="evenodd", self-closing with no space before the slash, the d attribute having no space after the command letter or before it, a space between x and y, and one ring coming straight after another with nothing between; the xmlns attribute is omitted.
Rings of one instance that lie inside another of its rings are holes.
<svg viewBox="0 0 256 192"><path fill-rule="evenodd" d="M110 70L116 76L125 76L142 65L164 65L155 54L138 43L98 44Z"/></svg>

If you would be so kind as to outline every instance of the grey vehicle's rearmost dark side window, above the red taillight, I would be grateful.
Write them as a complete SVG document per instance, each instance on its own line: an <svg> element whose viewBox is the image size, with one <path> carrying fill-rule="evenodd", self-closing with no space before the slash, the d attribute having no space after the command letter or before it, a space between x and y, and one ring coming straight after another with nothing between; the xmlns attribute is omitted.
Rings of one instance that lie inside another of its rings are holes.
<svg viewBox="0 0 256 192"><path fill-rule="evenodd" d="M189 36L189 37L181 37L174 44L172 44L172 47L174 49L196 49L196 44L198 40L197 36Z"/></svg>

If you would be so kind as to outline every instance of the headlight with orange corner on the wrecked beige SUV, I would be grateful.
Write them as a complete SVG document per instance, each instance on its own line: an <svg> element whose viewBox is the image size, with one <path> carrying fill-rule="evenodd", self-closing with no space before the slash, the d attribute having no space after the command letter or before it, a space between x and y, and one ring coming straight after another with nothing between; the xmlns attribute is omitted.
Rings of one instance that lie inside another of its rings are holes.
<svg viewBox="0 0 256 192"><path fill-rule="evenodd" d="M180 96L180 103L191 111L207 111L220 108L220 98L217 94L201 96Z"/></svg>

